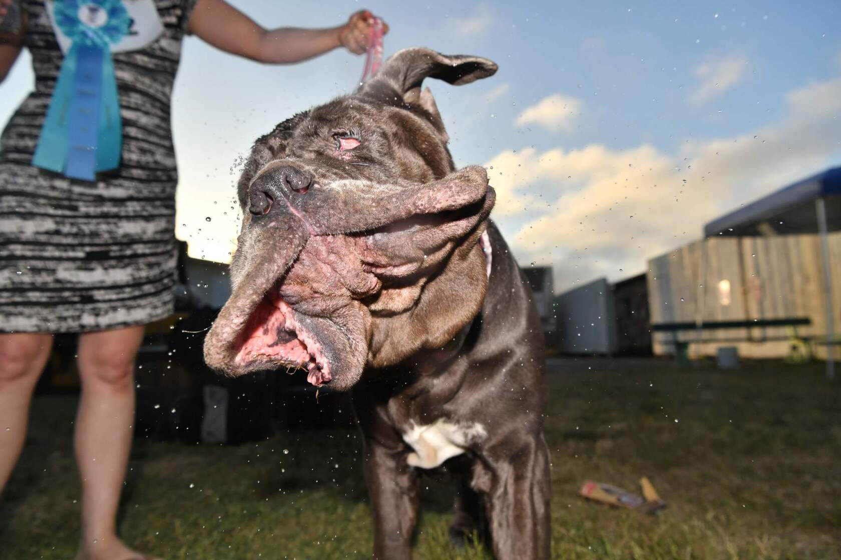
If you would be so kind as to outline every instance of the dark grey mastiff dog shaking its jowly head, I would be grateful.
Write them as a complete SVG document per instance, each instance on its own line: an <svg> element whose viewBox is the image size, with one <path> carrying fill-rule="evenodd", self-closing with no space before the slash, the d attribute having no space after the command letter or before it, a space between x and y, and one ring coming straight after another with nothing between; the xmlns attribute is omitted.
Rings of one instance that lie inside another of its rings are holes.
<svg viewBox="0 0 841 560"><path fill-rule="evenodd" d="M478 56L401 50L350 96L257 139L237 190L232 293L204 343L213 369L303 369L352 390L374 557L411 557L419 476L458 479L458 544L549 557L543 335L489 220L478 166L456 170L426 78L495 74Z"/></svg>

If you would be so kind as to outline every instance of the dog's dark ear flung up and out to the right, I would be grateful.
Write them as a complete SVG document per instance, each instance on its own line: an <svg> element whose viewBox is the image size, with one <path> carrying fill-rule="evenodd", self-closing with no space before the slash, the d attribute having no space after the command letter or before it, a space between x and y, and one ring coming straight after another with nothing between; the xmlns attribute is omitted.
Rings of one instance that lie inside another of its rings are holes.
<svg viewBox="0 0 841 560"><path fill-rule="evenodd" d="M362 84L357 93L373 97L394 97L405 103L424 103L421 85L426 78L463 86L496 73L497 66L481 56L442 55L431 49L399 50L383 63L377 76ZM431 97L431 96L430 96ZM435 103L432 103L435 106ZM435 111L437 113L437 110Z"/></svg>

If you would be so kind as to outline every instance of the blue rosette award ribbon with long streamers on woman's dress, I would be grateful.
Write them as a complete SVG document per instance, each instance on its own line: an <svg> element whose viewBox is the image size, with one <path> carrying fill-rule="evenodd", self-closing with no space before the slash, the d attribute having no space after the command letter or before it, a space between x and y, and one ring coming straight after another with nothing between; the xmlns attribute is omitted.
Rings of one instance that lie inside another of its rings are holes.
<svg viewBox="0 0 841 560"><path fill-rule="evenodd" d="M95 181L119 166L122 123L110 44L129 31L119 0L56 0L56 25L72 39L41 128L32 164Z"/></svg>

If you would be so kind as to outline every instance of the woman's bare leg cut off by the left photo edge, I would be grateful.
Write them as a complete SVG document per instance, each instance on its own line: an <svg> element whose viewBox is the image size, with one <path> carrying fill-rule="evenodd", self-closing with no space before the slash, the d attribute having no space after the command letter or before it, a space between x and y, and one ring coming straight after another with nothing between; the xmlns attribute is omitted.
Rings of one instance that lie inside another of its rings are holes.
<svg viewBox="0 0 841 560"><path fill-rule="evenodd" d="M51 334L0 334L0 493L24 447L29 401L50 348Z"/></svg>

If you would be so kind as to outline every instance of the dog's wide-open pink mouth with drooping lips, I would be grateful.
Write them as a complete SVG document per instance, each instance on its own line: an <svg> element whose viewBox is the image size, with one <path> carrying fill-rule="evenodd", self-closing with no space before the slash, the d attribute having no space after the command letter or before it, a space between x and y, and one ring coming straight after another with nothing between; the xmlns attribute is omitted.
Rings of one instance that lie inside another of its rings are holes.
<svg viewBox="0 0 841 560"><path fill-rule="evenodd" d="M289 373L305 369L316 387L332 379L330 364L315 338L295 318L295 311L280 296L264 296L237 337L235 364L276 364Z"/></svg>

